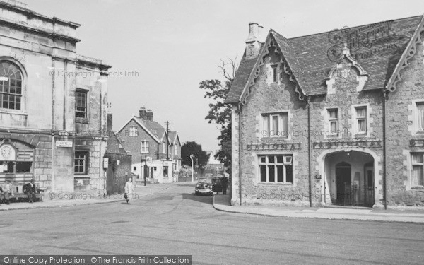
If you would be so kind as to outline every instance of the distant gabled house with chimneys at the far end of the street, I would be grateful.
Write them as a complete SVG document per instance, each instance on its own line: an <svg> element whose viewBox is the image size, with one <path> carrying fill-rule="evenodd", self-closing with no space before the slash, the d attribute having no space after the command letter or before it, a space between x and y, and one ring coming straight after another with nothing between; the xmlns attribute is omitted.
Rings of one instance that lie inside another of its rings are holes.
<svg viewBox="0 0 424 265"><path fill-rule="evenodd" d="M136 180L146 175L151 182L173 182L174 173L181 167L181 142L177 131L167 133L153 121L152 110L141 107L139 117L131 117L119 129L118 136L132 155L131 172L137 176ZM147 158L151 158L151 164Z"/></svg>

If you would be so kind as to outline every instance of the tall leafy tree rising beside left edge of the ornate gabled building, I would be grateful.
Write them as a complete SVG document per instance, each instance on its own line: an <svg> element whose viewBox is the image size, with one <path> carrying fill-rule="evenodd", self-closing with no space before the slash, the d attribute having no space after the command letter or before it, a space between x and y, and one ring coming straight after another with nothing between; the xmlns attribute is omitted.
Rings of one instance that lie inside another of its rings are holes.
<svg viewBox="0 0 424 265"><path fill-rule="evenodd" d="M218 79L204 80L200 82L200 89L206 90L204 98L211 98L216 102L209 104L211 110L205 119L208 123L216 123L219 125L220 135L218 136L220 149L216 152L215 158L228 167L228 173L231 170L231 106L224 104L232 81L234 80L235 71L237 70L235 59L227 58L226 61L221 59L221 65L218 66L223 72L224 84Z"/></svg>

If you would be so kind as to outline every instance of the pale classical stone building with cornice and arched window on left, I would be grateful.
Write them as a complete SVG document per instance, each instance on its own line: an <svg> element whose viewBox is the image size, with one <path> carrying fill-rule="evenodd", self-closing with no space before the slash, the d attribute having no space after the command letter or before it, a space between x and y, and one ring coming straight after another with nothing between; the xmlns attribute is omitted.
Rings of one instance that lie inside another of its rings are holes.
<svg viewBox="0 0 424 265"><path fill-rule="evenodd" d="M0 182L103 189L107 71L76 53L77 23L0 1Z"/></svg>

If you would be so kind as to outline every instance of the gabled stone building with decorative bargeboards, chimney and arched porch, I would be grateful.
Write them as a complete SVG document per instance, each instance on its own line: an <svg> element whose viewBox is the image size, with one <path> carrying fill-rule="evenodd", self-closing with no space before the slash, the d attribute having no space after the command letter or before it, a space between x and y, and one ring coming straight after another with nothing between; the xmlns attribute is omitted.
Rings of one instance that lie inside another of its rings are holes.
<svg viewBox="0 0 424 265"><path fill-rule="evenodd" d="M423 16L264 42L259 28L225 101L232 204L424 206Z"/></svg>

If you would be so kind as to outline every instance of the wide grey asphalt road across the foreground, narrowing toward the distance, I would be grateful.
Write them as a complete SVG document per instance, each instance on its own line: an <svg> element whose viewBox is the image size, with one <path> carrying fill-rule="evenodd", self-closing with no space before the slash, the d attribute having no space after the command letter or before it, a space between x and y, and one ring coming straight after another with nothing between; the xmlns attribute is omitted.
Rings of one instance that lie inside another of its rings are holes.
<svg viewBox="0 0 424 265"><path fill-rule="evenodd" d="M0 211L0 254L192 254L194 264L424 264L424 225L216 211L193 184L131 201Z"/></svg>

